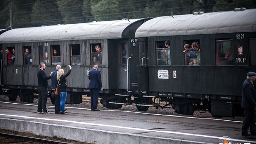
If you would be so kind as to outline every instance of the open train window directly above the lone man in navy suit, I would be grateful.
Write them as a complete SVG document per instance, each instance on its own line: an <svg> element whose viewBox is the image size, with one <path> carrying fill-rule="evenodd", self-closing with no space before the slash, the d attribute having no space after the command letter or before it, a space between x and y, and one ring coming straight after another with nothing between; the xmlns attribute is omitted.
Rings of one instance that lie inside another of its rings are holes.
<svg viewBox="0 0 256 144"><path fill-rule="evenodd" d="M91 64L102 64L102 49L101 44L91 44Z"/></svg>

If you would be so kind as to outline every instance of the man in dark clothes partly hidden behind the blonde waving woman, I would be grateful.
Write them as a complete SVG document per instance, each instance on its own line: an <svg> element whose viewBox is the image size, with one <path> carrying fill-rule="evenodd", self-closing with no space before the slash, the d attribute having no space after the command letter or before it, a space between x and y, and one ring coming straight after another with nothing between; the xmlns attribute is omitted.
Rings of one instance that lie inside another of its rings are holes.
<svg viewBox="0 0 256 144"><path fill-rule="evenodd" d="M51 72L51 81L52 81L52 84L51 84L51 89L52 90L55 90L56 87L57 87L57 72L58 70L61 69L61 65L57 65L56 66L56 70ZM56 96L54 94L54 92L52 93L52 96L54 97L55 99L55 114L60 114L60 96Z"/></svg>

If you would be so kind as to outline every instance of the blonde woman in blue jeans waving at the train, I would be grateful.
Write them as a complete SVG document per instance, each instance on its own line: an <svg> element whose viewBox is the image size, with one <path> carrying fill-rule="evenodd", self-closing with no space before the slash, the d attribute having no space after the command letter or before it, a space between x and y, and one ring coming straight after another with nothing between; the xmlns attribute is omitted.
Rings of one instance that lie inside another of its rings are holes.
<svg viewBox="0 0 256 144"><path fill-rule="evenodd" d="M58 89L60 93L60 114L66 114L65 113L65 102L67 98L67 90L66 90L66 77L70 74L71 72L71 66L68 65L69 71L64 75L64 70L59 69L57 72L57 82L59 81L58 84Z"/></svg>

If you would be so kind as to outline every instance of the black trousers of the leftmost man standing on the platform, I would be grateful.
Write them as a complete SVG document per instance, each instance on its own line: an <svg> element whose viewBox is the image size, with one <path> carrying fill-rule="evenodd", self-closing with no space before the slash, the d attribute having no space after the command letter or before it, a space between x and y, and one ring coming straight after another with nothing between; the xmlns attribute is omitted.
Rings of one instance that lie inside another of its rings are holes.
<svg viewBox="0 0 256 144"><path fill-rule="evenodd" d="M48 91L47 87L38 87L38 105L37 112L47 112L46 102L47 102Z"/></svg>

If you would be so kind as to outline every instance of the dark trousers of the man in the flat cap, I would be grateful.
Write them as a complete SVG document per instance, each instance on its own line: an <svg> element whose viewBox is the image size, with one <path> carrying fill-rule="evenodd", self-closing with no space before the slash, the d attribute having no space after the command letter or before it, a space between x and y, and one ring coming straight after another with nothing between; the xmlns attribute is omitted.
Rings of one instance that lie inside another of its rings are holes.
<svg viewBox="0 0 256 144"><path fill-rule="evenodd" d="M255 125L255 109L244 109L244 120L242 126L242 135L248 133L248 128L250 127L251 135L256 135L256 125Z"/></svg>

